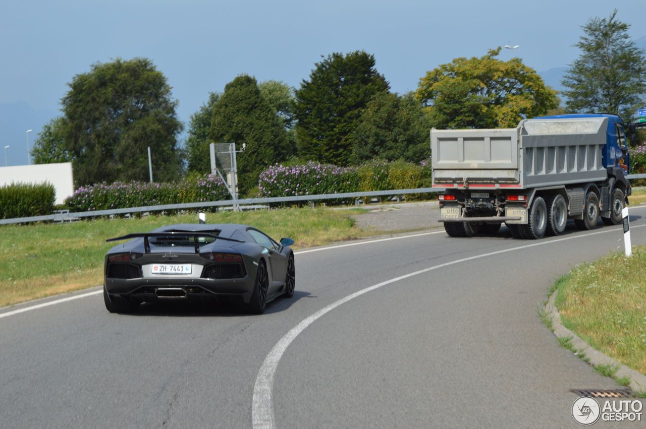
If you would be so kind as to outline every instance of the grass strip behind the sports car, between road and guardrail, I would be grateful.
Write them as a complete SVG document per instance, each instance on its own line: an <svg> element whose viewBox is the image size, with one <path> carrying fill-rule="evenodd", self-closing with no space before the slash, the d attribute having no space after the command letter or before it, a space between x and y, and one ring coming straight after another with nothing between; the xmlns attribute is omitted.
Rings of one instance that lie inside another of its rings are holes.
<svg viewBox="0 0 646 429"><path fill-rule="evenodd" d="M302 248L375 234L360 230L351 218L365 211L286 208L218 212L207 214L207 222L252 224L275 239L291 237L295 247ZM105 239L196 221L196 214L187 214L0 226L0 306L101 284L103 257L115 244L105 243Z"/></svg>

